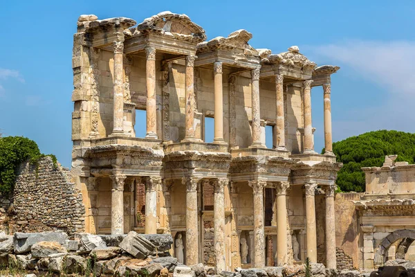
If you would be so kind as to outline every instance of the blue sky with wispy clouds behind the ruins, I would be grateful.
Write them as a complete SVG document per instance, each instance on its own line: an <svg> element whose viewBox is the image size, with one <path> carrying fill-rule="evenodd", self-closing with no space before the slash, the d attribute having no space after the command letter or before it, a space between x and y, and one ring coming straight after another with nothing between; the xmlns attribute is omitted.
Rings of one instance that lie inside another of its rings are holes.
<svg viewBox="0 0 415 277"><path fill-rule="evenodd" d="M208 39L244 28L274 53L299 46L341 67L331 86L333 139L376 129L415 132L414 1L2 1L0 129L71 165L71 55L77 17L187 14ZM322 89L312 92L315 150L324 146Z"/></svg>

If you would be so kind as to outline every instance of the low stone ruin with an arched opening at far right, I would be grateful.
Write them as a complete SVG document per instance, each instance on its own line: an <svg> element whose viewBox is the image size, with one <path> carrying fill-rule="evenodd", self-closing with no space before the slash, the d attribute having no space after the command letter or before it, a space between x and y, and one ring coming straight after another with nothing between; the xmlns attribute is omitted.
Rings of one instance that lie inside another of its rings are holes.
<svg viewBox="0 0 415 277"><path fill-rule="evenodd" d="M396 162L396 157L385 157L381 168L362 168L366 193L354 201L360 222L362 269L378 268L396 258L415 260L411 247L415 240L415 165Z"/></svg>

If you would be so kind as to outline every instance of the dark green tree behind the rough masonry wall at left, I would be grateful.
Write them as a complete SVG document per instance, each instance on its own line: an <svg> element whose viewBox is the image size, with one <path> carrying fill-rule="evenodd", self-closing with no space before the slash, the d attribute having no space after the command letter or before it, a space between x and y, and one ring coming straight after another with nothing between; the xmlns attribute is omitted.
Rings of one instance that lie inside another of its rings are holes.
<svg viewBox="0 0 415 277"><path fill-rule="evenodd" d="M45 156L35 141L23 136L0 137L0 193L6 195L12 192L16 170L22 162L30 160L31 163L37 163ZM52 157L56 166L56 157L48 156Z"/></svg>

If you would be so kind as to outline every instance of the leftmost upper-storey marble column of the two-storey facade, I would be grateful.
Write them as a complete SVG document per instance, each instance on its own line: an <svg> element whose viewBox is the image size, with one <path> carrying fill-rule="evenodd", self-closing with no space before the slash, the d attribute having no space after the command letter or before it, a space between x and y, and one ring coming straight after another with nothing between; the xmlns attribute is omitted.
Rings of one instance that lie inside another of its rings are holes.
<svg viewBox="0 0 415 277"><path fill-rule="evenodd" d="M113 42L113 135L124 133L124 69L122 64L124 42Z"/></svg>

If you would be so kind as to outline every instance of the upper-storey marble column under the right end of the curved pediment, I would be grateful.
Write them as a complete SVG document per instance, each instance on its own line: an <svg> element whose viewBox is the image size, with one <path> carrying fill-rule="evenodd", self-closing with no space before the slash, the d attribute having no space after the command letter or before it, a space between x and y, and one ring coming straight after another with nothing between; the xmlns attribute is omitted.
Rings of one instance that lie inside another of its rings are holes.
<svg viewBox="0 0 415 277"><path fill-rule="evenodd" d="M186 56L186 76L185 76L185 139L183 141L199 141L195 138L194 132L194 112L196 100L194 98L194 60L195 55Z"/></svg>

